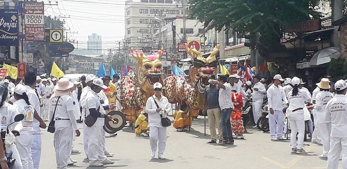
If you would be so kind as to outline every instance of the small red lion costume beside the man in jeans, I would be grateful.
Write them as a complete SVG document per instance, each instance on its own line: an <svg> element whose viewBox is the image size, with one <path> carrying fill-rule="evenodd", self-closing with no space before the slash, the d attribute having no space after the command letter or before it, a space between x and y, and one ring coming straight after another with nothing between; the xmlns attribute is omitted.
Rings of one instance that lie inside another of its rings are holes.
<svg viewBox="0 0 347 169"><path fill-rule="evenodd" d="M235 133L235 136L241 136L243 138L243 132L245 128L243 127L243 121L241 119L242 117L242 107L243 107L243 95L239 93L232 92L231 93L231 99L232 103L234 105L234 109L230 116L230 123L232 131Z"/></svg>

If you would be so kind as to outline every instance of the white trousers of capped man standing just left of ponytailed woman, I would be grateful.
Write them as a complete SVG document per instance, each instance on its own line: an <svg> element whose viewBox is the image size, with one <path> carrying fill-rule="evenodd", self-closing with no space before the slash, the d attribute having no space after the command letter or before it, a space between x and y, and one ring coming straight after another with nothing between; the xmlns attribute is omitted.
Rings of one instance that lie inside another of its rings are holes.
<svg viewBox="0 0 347 169"><path fill-rule="evenodd" d="M276 124L277 123L277 124ZM269 113L269 129L271 137L282 137L284 128L284 114L281 110L274 110L274 114ZM277 136L276 136L277 134Z"/></svg>

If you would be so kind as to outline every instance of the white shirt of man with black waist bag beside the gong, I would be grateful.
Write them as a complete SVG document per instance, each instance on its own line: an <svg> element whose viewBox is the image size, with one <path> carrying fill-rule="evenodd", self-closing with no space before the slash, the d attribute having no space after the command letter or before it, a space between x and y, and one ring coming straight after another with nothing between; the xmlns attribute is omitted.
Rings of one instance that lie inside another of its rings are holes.
<svg viewBox="0 0 347 169"><path fill-rule="evenodd" d="M96 109L96 110L98 110L100 108L99 112L102 113L101 111L103 110L103 108L102 108L102 106L100 104L100 98L92 90L89 90L87 92L85 108L86 108L86 115L85 115L86 117L90 114L89 109ZM105 118L98 117L96 119L96 122L95 122L94 125L95 126L104 126L104 123L105 123Z"/></svg>

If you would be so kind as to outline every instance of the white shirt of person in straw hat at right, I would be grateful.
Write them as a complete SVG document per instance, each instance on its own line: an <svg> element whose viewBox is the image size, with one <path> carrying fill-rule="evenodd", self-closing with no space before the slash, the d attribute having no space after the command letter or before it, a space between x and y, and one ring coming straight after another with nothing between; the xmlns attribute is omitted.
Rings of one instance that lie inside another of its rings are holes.
<svg viewBox="0 0 347 169"><path fill-rule="evenodd" d="M325 113L327 103L333 99L333 94L328 91L320 91L316 95L316 115L317 115L317 123L330 123L330 117L328 117Z"/></svg>

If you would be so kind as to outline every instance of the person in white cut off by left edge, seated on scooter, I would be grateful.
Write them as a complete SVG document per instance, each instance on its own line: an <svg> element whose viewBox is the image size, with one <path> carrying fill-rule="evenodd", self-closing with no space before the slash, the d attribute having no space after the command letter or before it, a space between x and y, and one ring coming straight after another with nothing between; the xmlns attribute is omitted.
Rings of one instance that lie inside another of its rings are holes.
<svg viewBox="0 0 347 169"><path fill-rule="evenodd" d="M0 82L0 90L1 93L3 91L0 100L1 130L6 131L7 126L14 122L14 117L19 114L19 111L15 106L5 102L5 98L7 98L7 88L3 84L3 82ZM12 132L19 133L22 128L23 126L20 122L14 122L11 126L9 126L8 129L12 130ZM10 145L10 151L12 151L13 157L15 159L19 159L15 161L13 169L23 169L22 163L20 161L20 154L18 153L16 145L14 143Z"/></svg>

